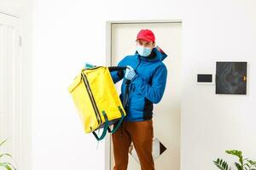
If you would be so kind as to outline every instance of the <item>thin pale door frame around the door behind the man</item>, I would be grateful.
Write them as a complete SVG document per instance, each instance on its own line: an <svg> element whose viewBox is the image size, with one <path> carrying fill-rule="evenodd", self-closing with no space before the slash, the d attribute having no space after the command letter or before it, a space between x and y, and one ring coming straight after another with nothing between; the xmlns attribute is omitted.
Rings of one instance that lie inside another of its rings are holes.
<svg viewBox="0 0 256 170"><path fill-rule="evenodd" d="M106 65L112 65L112 26L113 24L162 24L162 23L179 23L177 20L108 20L106 22ZM111 135L105 139L105 170L111 170Z"/></svg>

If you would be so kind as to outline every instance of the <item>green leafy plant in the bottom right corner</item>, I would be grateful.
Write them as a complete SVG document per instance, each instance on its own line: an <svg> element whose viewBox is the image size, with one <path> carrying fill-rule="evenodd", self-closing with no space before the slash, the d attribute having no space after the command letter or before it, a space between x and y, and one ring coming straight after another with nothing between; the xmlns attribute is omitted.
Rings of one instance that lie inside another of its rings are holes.
<svg viewBox="0 0 256 170"><path fill-rule="evenodd" d="M239 158L239 161L235 162L237 170L256 170L256 161L249 160L248 158L244 159L241 150L226 150L225 152ZM223 159L218 158L213 162L221 170L231 170L227 161L224 161Z"/></svg>

